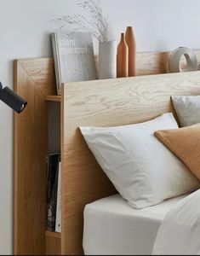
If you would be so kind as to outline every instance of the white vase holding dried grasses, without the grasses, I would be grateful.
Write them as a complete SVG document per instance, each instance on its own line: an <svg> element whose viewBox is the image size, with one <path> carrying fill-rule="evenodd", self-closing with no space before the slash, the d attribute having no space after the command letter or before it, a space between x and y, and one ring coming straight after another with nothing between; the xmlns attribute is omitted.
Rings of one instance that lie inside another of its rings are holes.
<svg viewBox="0 0 200 256"><path fill-rule="evenodd" d="M99 79L117 78L117 41L99 43Z"/></svg>

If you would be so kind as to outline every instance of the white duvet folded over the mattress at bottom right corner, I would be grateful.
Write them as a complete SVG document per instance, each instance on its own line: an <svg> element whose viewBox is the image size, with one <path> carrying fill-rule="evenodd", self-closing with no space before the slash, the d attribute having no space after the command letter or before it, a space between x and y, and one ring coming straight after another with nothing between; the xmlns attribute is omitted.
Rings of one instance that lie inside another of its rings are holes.
<svg viewBox="0 0 200 256"><path fill-rule="evenodd" d="M186 196L163 219L152 255L200 255L200 189Z"/></svg>

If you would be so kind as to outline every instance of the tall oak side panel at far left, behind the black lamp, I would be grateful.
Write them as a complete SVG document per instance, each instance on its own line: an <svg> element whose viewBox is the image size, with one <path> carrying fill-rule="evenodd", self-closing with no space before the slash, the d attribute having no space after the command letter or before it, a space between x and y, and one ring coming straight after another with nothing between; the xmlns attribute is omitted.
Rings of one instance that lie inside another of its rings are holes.
<svg viewBox="0 0 200 256"><path fill-rule="evenodd" d="M55 93L52 59L14 61L14 90L26 109L14 113L14 254L44 254L47 103Z"/></svg>

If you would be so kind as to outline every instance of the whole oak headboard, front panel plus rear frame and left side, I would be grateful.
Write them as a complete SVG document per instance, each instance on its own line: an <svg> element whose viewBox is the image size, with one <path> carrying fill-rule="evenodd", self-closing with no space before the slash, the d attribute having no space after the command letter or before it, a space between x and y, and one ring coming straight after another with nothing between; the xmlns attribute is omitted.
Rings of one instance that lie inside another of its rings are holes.
<svg viewBox="0 0 200 256"><path fill-rule="evenodd" d="M147 73L166 72L168 53L140 57L151 64ZM165 61L157 62L158 59ZM140 74L145 73L146 66L143 72L140 68ZM199 95L200 72L63 84L60 98L51 96L55 94L51 58L18 60L14 61L14 90L28 102L23 113L14 114L14 254L81 254L84 206L116 190L89 151L78 127L128 125L174 112L170 96ZM47 232L45 235L45 155L50 100L61 103L61 236ZM45 239L49 247L57 244L59 249L50 251Z"/></svg>

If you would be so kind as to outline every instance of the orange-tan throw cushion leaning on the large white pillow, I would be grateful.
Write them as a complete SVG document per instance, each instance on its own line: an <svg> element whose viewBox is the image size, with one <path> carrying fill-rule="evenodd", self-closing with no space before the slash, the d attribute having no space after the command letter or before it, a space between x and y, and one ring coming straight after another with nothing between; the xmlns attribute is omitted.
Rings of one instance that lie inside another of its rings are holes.
<svg viewBox="0 0 200 256"><path fill-rule="evenodd" d="M154 135L200 180L200 124L155 131Z"/></svg>

